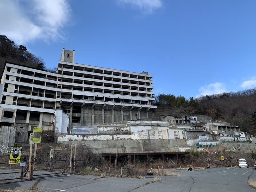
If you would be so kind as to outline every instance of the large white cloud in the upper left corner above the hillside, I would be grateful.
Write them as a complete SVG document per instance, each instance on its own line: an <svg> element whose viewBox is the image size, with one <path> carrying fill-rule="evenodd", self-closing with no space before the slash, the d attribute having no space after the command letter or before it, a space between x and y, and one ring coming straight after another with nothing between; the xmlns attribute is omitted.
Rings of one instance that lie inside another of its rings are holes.
<svg viewBox="0 0 256 192"><path fill-rule="evenodd" d="M66 0L0 1L0 34L17 44L59 40L70 17Z"/></svg>

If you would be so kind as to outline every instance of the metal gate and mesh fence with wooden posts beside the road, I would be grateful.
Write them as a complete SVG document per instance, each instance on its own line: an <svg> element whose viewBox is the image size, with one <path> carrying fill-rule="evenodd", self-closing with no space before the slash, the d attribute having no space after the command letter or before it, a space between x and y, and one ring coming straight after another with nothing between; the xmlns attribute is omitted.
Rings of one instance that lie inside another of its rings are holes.
<svg viewBox="0 0 256 192"><path fill-rule="evenodd" d="M52 144L16 144L22 146L20 164L9 164L9 154L0 157L0 184L20 182L42 177L73 173L74 159L70 157L70 148L53 146ZM50 149L54 148L54 156L50 158Z"/></svg>

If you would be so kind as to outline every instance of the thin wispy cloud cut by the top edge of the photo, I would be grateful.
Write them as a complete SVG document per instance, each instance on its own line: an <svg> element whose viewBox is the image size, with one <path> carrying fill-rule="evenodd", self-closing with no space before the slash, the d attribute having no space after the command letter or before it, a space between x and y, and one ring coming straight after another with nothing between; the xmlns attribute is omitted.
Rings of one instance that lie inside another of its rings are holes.
<svg viewBox="0 0 256 192"><path fill-rule="evenodd" d="M128 4L141 10L144 14L151 14L163 6L162 0L116 0L118 4Z"/></svg>

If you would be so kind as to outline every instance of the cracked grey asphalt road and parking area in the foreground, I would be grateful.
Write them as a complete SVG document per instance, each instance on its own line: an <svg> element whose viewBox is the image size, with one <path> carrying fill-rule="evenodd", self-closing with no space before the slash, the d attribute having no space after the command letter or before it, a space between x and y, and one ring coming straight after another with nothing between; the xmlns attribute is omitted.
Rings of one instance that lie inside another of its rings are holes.
<svg viewBox="0 0 256 192"><path fill-rule="evenodd" d="M64 192L253 192L248 179L256 179L256 170L252 168L211 168L188 172L173 171L180 176L145 176L146 179L106 177L95 179L95 176L63 175L40 179L38 190ZM162 180L150 183L154 177ZM36 180L20 183L3 184L4 189L29 189Z"/></svg>

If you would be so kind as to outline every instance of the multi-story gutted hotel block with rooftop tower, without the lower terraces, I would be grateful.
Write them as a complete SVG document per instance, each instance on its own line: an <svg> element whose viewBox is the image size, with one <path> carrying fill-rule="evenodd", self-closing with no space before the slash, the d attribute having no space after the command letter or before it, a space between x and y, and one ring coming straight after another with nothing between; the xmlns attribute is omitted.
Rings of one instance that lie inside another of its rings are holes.
<svg viewBox="0 0 256 192"><path fill-rule="evenodd" d="M56 73L6 63L0 125L71 133L73 126L122 124L151 117L152 75L75 63L63 48ZM64 123L63 123L64 122Z"/></svg>

